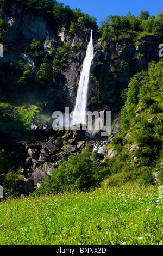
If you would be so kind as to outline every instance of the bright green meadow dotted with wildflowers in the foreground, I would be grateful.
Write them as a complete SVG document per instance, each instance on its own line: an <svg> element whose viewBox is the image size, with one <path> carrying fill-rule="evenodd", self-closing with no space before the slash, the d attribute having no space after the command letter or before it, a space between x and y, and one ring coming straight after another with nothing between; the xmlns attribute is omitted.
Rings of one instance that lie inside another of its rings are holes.
<svg viewBox="0 0 163 256"><path fill-rule="evenodd" d="M1 245L163 244L158 187L108 187L0 202Z"/></svg>

